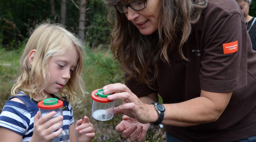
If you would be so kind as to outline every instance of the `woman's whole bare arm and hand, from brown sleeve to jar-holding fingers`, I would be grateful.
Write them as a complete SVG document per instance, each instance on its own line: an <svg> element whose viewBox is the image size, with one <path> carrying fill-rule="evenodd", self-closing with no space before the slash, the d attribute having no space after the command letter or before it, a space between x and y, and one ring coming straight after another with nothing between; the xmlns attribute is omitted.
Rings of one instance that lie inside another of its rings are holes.
<svg viewBox="0 0 256 142"><path fill-rule="evenodd" d="M136 118L140 123L154 123L158 119L158 114L154 105L145 104L140 101L156 101L144 97L138 98L131 90L123 84L111 84L104 89L104 93L115 93L109 95L109 100L123 99L124 103L115 109L116 114L125 114ZM216 121L227 107L232 92L213 93L201 91L200 97L174 104L164 104L165 114L162 124L172 126L193 126ZM153 95L155 96L155 95Z"/></svg>

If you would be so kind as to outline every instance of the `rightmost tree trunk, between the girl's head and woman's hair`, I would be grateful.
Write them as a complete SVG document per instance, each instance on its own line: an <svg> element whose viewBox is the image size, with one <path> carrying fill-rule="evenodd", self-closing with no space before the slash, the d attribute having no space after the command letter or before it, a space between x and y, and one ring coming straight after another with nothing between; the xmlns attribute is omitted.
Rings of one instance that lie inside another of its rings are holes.
<svg viewBox="0 0 256 142"><path fill-rule="evenodd" d="M83 42L84 42L84 35L85 35L85 5L86 5L86 0L80 0L78 36Z"/></svg>

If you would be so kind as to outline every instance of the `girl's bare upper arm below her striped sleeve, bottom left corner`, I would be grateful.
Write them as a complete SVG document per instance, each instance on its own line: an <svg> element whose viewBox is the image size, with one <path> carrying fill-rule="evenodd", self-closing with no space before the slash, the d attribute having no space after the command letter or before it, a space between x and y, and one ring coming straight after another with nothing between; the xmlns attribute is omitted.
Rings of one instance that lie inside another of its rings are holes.
<svg viewBox="0 0 256 142"><path fill-rule="evenodd" d="M11 131L9 129L0 127L0 141L15 141L15 142L21 142L22 136L18 133Z"/></svg>

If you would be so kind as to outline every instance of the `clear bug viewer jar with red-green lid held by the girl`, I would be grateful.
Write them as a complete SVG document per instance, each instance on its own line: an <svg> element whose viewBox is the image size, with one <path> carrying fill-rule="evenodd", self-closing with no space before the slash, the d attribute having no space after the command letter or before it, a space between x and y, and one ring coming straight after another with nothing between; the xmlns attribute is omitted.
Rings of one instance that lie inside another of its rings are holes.
<svg viewBox="0 0 256 142"><path fill-rule="evenodd" d="M40 118L42 118L44 115L52 111L56 112L56 114L52 116L52 118L62 115L63 101L61 100L58 100L55 98L49 98L49 99L45 99L43 101L38 102L37 106L39 108Z"/></svg>

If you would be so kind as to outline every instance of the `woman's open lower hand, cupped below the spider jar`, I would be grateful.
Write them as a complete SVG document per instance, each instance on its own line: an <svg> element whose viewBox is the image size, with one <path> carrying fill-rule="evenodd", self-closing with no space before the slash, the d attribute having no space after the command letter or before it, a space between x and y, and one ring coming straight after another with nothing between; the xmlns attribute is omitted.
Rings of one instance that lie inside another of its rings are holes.
<svg viewBox="0 0 256 142"><path fill-rule="evenodd" d="M120 133L122 132L123 138L128 138L131 141L137 140L138 142L141 142L145 139L146 133L148 131L148 128L150 126L149 123L142 124L138 122L136 119L131 118L129 116L123 116L123 121L121 121L116 126L116 132Z"/></svg>

